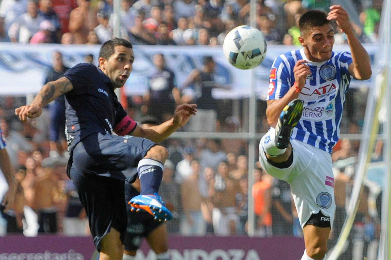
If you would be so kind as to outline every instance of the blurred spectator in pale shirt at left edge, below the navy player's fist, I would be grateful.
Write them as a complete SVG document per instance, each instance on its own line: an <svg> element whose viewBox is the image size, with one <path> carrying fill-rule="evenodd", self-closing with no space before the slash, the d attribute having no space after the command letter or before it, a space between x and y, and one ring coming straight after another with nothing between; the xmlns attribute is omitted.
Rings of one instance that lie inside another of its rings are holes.
<svg viewBox="0 0 391 260"><path fill-rule="evenodd" d="M23 135L11 129L9 123L3 118L0 119L0 128L3 132L3 139L7 143L5 149L7 149L9 159L12 165L17 167L20 164L19 157L26 157L26 154L32 152L32 145Z"/></svg>

